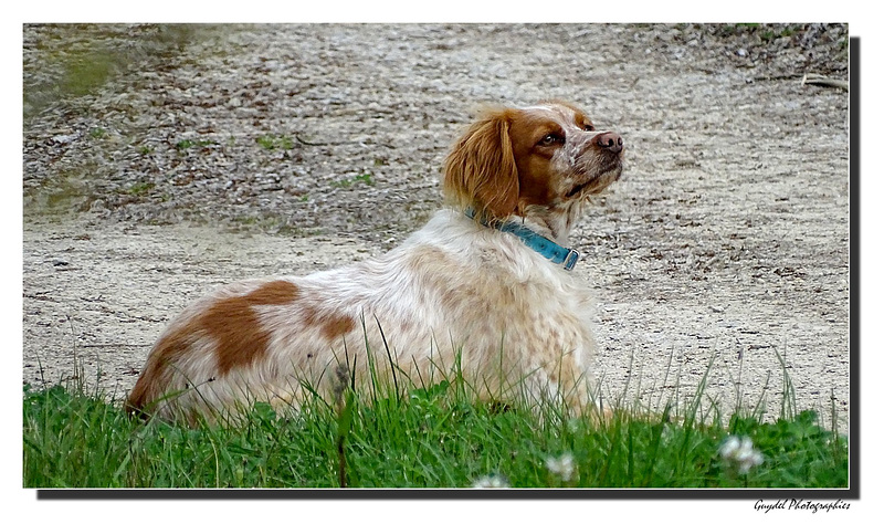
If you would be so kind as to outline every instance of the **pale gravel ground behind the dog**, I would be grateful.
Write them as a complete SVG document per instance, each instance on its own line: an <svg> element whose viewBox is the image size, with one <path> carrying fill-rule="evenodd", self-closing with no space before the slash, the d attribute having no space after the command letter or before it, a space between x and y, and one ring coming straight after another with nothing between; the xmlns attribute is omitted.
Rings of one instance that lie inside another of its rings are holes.
<svg viewBox="0 0 884 524"><path fill-rule="evenodd" d="M604 390L659 409L708 371L706 406L777 416L790 386L848 431L849 94L801 82L849 80L846 38L25 25L23 380L119 398L189 301L386 251L439 207L477 104L558 97L628 147L572 239Z"/></svg>

